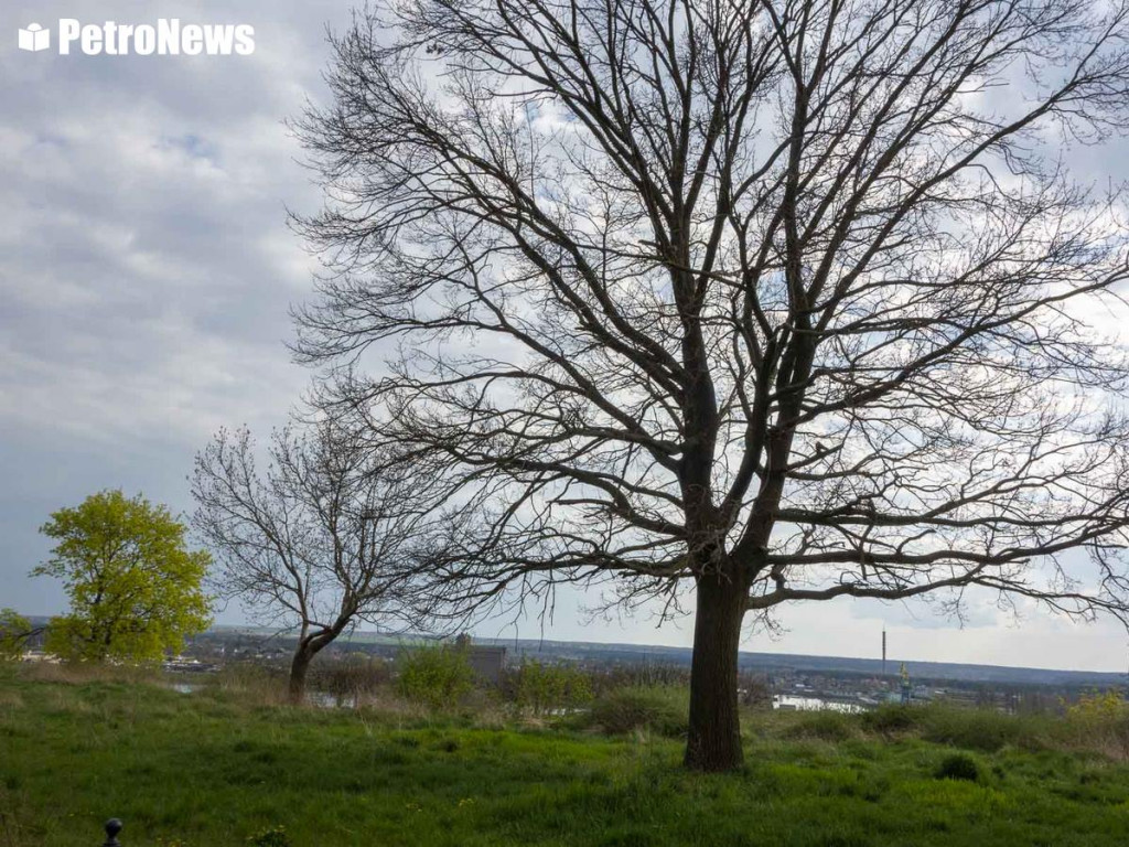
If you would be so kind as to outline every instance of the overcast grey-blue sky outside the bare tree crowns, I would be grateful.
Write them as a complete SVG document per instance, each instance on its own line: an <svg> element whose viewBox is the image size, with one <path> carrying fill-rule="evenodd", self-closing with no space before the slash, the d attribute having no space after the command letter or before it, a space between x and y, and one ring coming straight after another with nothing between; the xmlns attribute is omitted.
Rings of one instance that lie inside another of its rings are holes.
<svg viewBox="0 0 1129 847"><path fill-rule="evenodd" d="M288 308L313 262L286 208L317 191L282 121L324 95L324 28L348 2L5 0L0 8L0 606L64 609L27 571L49 513L104 488L187 513L193 454L220 426L261 434L299 402ZM19 52L17 28L56 20L248 24L252 56ZM1123 148L1122 148L1123 149ZM1100 169L1115 160L1087 157ZM594 600L594 599L590 599ZM689 645L691 623L590 621L561 597L544 626L482 635ZM220 622L243 620L228 609ZM1113 623L974 603L962 628L921 604L785 609L786 631L745 649L1120 670Z"/></svg>

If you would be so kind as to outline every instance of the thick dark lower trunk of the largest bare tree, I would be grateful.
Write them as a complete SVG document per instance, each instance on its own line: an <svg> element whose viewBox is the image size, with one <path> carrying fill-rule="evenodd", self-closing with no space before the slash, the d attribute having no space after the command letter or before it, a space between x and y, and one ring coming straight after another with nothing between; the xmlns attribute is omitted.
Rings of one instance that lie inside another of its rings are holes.
<svg viewBox="0 0 1129 847"><path fill-rule="evenodd" d="M694 652L690 666L690 732L685 766L732 770L741 766L737 648L744 592L717 575L698 580Z"/></svg>

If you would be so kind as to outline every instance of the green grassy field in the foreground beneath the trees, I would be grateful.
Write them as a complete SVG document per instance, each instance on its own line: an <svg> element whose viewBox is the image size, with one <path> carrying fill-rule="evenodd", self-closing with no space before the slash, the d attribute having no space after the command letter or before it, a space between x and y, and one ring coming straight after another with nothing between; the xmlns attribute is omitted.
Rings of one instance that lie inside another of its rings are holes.
<svg viewBox="0 0 1129 847"><path fill-rule="evenodd" d="M8 669L0 845L94 847L111 815L126 847L1124 845L1129 765L1099 742L944 709L761 714L744 770L700 776L648 732Z"/></svg>

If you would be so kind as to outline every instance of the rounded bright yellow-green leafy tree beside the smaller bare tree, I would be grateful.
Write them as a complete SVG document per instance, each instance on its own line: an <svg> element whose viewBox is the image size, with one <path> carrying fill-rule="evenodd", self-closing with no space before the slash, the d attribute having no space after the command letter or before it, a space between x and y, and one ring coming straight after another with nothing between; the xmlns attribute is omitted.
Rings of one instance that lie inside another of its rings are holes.
<svg viewBox="0 0 1129 847"><path fill-rule="evenodd" d="M56 543L32 575L62 579L71 602L51 621L47 650L151 661L208 627L202 582L211 557L186 548L185 527L167 507L100 491L52 514L41 532Z"/></svg>

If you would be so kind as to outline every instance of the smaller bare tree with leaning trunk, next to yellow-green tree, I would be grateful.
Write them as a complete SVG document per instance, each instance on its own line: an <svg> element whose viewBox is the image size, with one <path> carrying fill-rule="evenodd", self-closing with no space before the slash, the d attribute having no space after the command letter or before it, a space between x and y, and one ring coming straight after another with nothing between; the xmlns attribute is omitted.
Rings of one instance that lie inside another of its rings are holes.
<svg viewBox="0 0 1129 847"><path fill-rule="evenodd" d="M314 656L343 631L421 622L414 576L449 525L406 468L329 424L275 431L263 474L254 453L240 429L221 430L196 456L193 526L216 555L222 593L298 629L289 695L300 701Z"/></svg>

